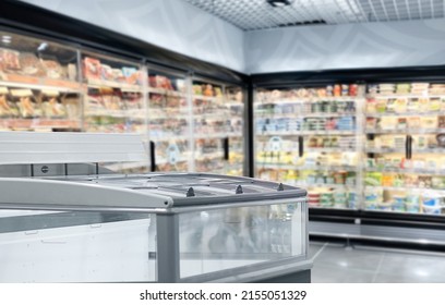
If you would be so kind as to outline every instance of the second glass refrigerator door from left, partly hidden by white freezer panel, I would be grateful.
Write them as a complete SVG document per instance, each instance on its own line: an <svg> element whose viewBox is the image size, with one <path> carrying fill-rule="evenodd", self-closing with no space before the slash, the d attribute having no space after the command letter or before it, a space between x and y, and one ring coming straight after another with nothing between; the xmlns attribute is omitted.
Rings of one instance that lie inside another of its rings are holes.
<svg viewBox="0 0 445 305"><path fill-rule="evenodd" d="M142 62L82 51L84 131L88 133L140 133L146 137L146 106ZM112 171L146 172L147 160L101 164Z"/></svg>

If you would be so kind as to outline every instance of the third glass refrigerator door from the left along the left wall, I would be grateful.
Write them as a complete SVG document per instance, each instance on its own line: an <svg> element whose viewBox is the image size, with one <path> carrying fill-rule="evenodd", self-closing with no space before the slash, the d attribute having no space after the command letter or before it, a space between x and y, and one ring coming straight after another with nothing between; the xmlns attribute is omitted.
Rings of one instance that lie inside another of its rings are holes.
<svg viewBox="0 0 445 305"><path fill-rule="evenodd" d="M191 110L184 75L148 68L148 137L155 171L190 171Z"/></svg>

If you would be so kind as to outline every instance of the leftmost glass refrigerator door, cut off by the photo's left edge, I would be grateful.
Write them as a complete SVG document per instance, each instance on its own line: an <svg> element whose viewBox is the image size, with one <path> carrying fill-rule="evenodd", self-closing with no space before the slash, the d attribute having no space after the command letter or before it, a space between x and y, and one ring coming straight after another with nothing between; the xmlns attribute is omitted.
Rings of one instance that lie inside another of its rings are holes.
<svg viewBox="0 0 445 305"><path fill-rule="evenodd" d="M0 30L0 130L81 131L79 52Z"/></svg>

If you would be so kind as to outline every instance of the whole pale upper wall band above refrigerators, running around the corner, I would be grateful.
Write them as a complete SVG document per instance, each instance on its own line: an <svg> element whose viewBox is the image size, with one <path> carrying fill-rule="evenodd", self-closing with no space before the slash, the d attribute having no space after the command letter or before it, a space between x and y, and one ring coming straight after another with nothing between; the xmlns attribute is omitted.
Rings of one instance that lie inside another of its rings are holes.
<svg viewBox="0 0 445 305"><path fill-rule="evenodd" d="M22 0L244 73L445 63L445 20L243 33L182 0Z"/></svg>

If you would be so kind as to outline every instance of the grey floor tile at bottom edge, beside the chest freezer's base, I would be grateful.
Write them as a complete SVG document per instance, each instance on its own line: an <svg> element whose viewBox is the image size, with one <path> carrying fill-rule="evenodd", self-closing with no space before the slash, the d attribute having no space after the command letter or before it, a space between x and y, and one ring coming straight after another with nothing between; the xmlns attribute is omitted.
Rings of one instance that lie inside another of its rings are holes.
<svg viewBox="0 0 445 305"><path fill-rule="evenodd" d="M350 269L347 267L329 267L314 264L311 271L313 283L371 283L375 272Z"/></svg>

